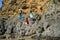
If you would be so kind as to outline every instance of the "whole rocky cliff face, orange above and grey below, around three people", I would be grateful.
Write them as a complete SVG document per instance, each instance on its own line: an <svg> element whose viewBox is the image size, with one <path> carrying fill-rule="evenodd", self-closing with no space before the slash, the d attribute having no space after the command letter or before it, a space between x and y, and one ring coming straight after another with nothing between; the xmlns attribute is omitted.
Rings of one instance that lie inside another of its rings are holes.
<svg viewBox="0 0 60 40"><path fill-rule="evenodd" d="M18 18L20 10L23 12L22 20ZM35 14L33 18L29 17L30 10ZM26 24L27 17L29 24ZM40 40L44 36L60 37L60 1L3 0L3 7L0 9L0 29L1 35L10 34L9 38L15 34L13 36L16 40L22 36L25 40Z"/></svg>

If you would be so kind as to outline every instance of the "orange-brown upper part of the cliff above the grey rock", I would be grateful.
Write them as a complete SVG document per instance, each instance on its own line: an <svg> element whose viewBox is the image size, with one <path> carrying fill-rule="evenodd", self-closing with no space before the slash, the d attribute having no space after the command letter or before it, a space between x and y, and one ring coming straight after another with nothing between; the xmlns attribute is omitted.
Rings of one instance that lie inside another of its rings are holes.
<svg viewBox="0 0 60 40"><path fill-rule="evenodd" d="M24 6L27 8L22 9L23 12L29 13L33 10L35 13L45 12L50 0L3 0L3 7L0 10L2 15L14 15L20 11Z"/></svg>

